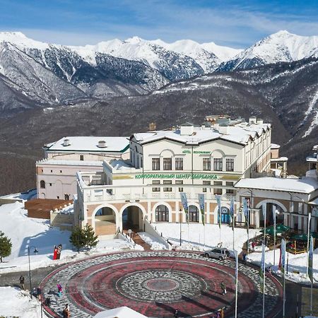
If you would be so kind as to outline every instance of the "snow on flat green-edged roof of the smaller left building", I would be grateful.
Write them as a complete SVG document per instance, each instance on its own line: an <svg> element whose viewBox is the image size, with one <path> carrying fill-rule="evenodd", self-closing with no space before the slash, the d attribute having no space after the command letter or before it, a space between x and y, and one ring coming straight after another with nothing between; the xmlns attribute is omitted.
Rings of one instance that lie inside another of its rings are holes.
<svg viewBox="0 0 318 318"><path fill-rule="evenodd" d="M69 146L63 146L65 139L69 140ZM98 147L99 141L105 141L106 147ZM61 138L54 143L49 143L44 148L47 151L88 151L99 153L123 153L129 148L129 140L128 137L71 136Z"/></svg>

